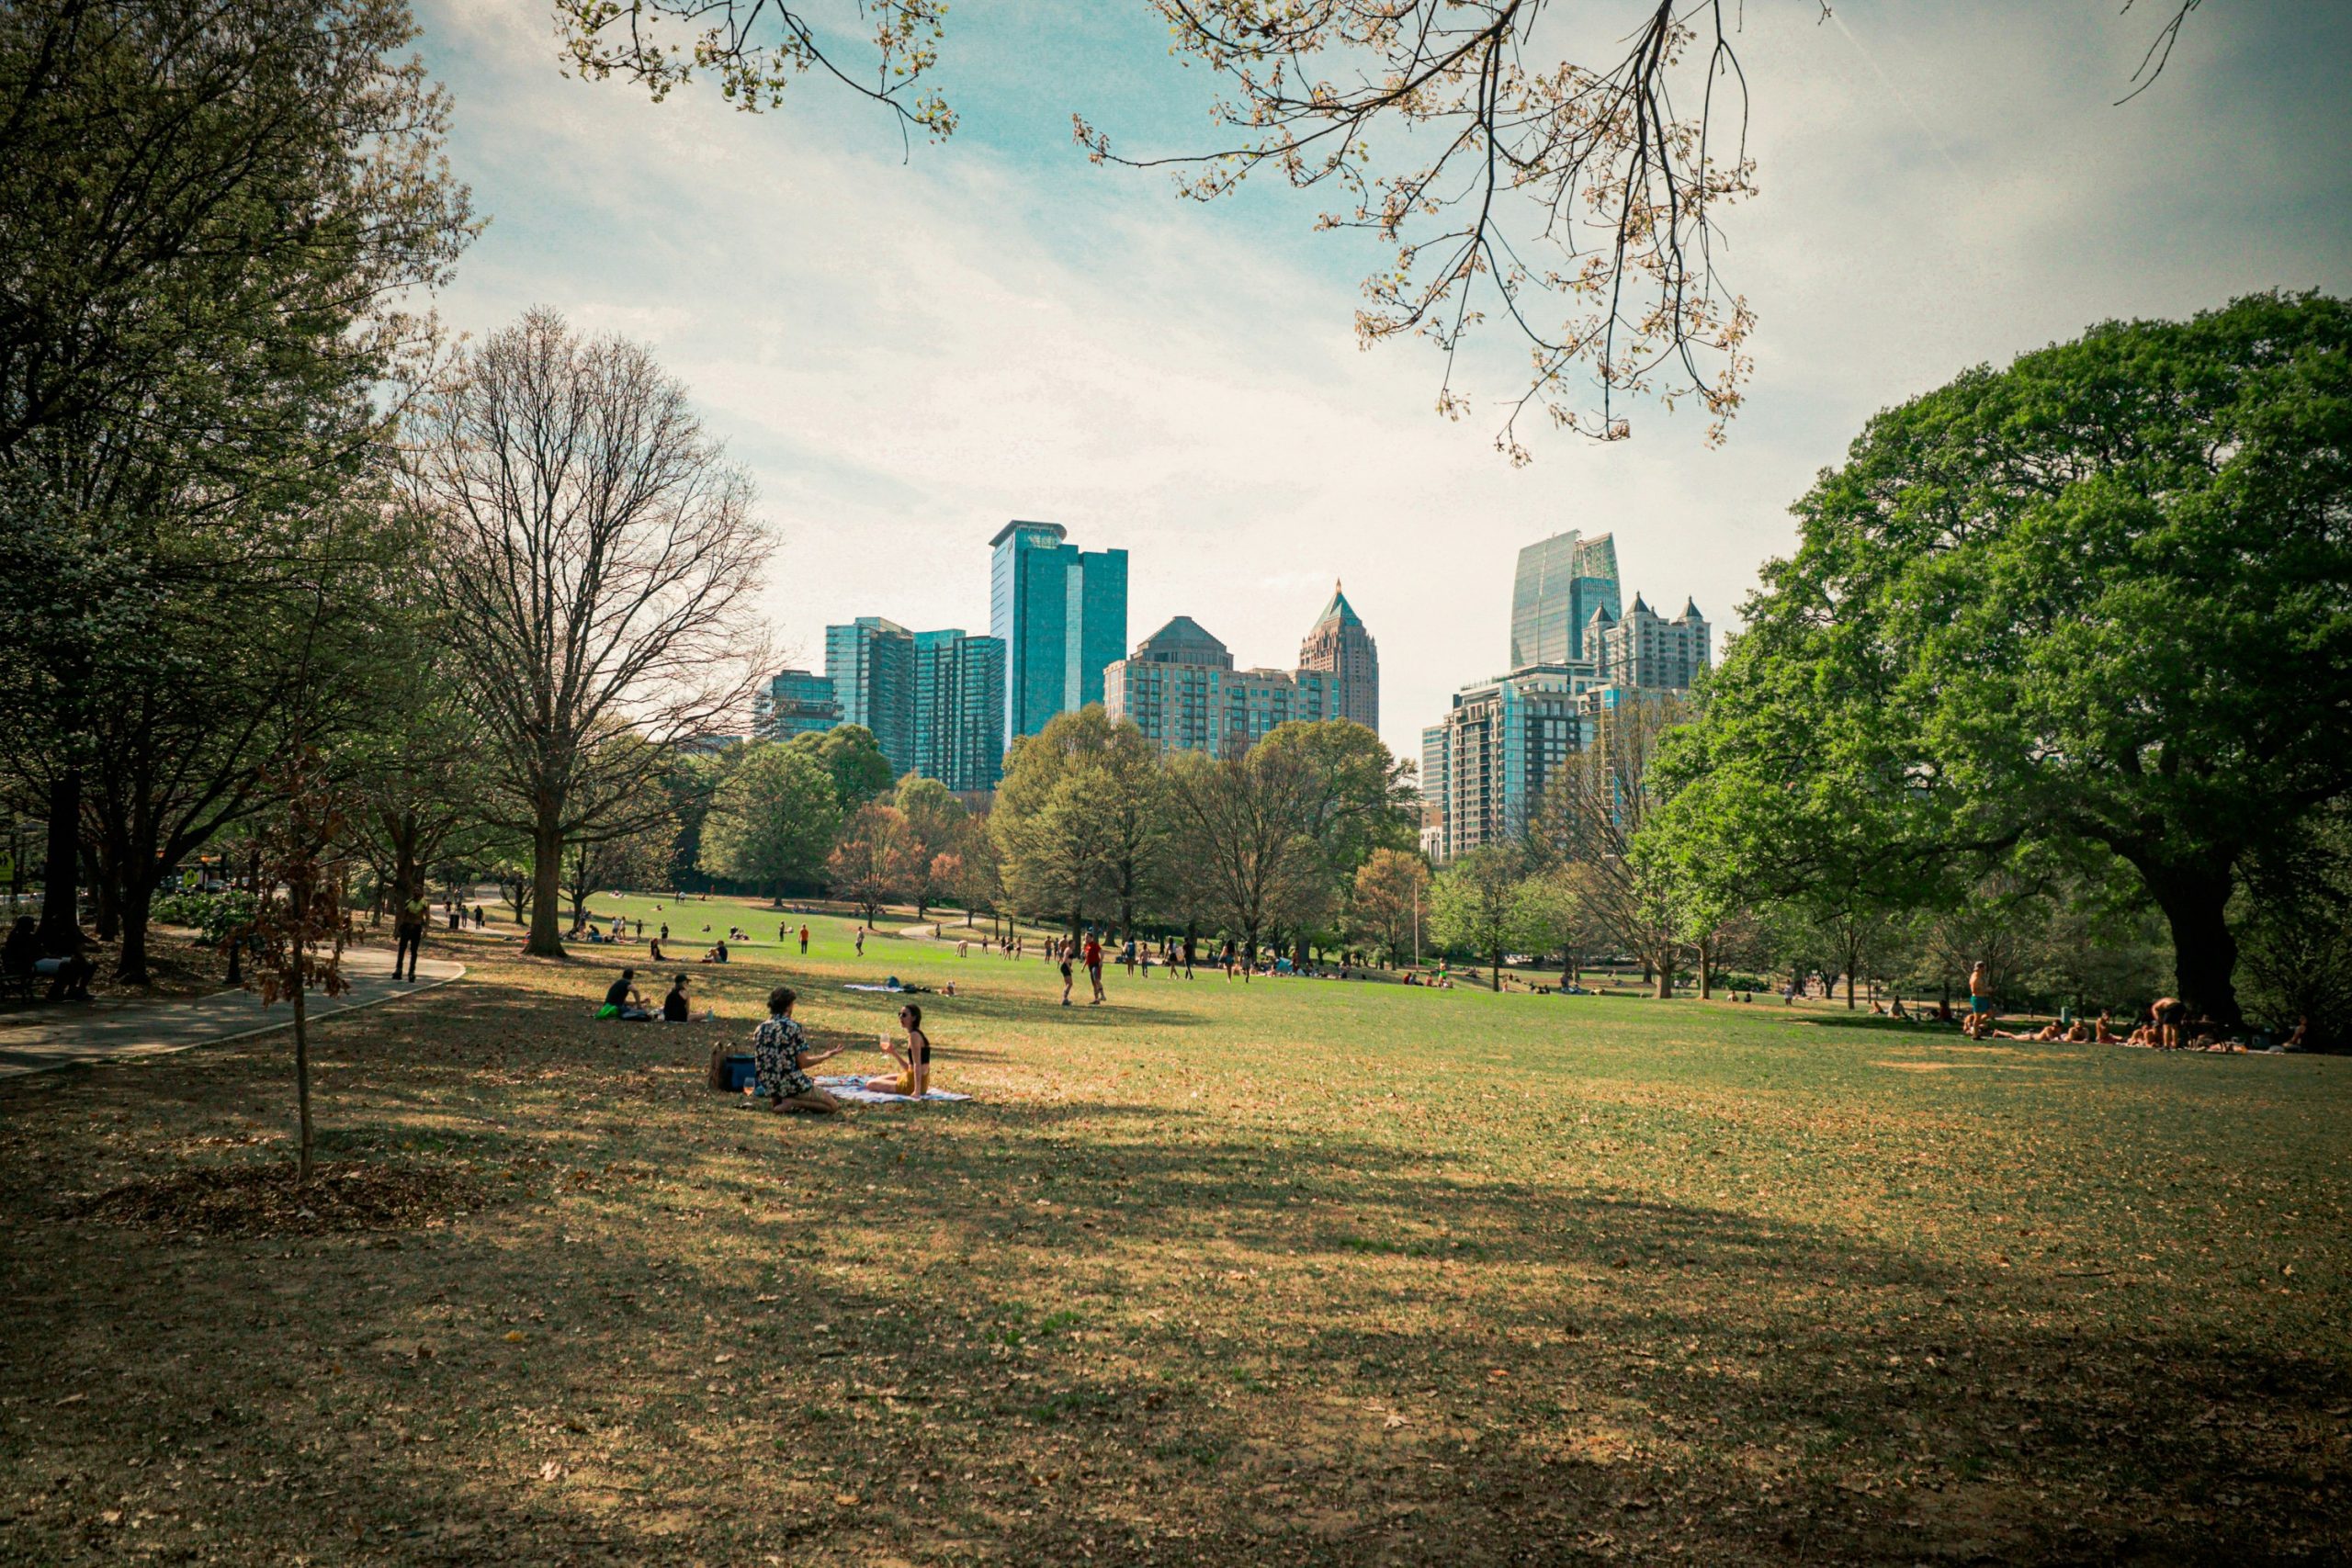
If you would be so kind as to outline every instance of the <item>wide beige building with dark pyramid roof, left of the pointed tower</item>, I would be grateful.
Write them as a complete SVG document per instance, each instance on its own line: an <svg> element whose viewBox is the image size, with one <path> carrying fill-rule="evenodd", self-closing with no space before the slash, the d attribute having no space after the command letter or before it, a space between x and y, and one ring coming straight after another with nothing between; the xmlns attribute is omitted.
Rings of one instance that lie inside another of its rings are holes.
<svg viewBox="0 0 2352 1568"><path fill-rule="evenodd" d="M1338 719L1341 677L1327 670L1235 670L1192 616L1176 616L1103 670L1103 710L1164 752L1240 757L1277 724Z"/></svg>

